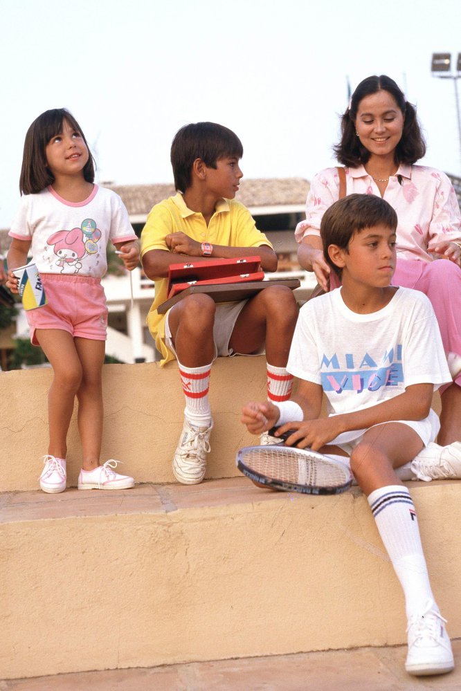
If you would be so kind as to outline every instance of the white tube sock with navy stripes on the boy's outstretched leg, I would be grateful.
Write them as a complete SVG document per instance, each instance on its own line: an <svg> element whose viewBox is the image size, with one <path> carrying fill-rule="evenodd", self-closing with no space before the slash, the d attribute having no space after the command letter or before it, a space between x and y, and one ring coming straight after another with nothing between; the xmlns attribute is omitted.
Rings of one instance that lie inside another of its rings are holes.
<svg viewBox="0 0 461 691"><path fill-rule="evenodd" d="M406 615L418 614L434 596L410 492L401 485L380 487L368 496L368 504L404 590Z"/></svg>

